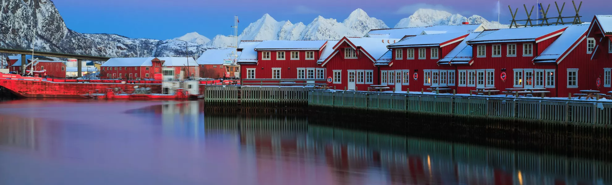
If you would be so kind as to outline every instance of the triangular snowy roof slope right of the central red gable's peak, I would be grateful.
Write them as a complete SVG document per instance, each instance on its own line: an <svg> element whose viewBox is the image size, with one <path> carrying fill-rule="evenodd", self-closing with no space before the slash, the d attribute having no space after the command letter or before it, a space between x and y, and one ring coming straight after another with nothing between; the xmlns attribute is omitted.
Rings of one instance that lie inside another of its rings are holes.
<svg viewBox="0 0 612 185"><path fill-rule="evenodd" d="M384 53L387 53L389 49L387 49L387 45L391 43L398 42L400 38L370 38L370 37L347 37L348 40L353 43L355 46L361 46L361 48L365 49L370 56L374 57L374 59L378 59L383 56ZM387 40L389 42L387 42Z"/></svg>

